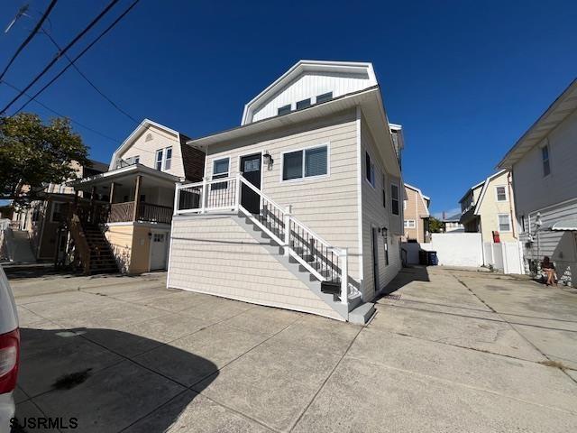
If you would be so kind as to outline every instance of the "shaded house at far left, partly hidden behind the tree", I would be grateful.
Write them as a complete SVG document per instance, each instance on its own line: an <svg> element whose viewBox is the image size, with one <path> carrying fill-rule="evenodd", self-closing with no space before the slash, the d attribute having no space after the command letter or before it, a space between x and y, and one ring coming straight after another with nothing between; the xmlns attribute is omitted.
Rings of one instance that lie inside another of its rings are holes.
<svg viewBox="0 0 577 433"><path fill-rule="evenodd" d="M73 161L71 166L77 178L93 176L107 170L107 164L90 160L89 166ZM49 183L41 193L41 199L33 200L29 207L18 207L14 210L12 225L14 229L26 232L36 260L54 261L57 251L65 253L67 239L62 232L64 224L64 207L74 201L74 189L67 182ZM15 234L18 235L23 234Z"/></svg>

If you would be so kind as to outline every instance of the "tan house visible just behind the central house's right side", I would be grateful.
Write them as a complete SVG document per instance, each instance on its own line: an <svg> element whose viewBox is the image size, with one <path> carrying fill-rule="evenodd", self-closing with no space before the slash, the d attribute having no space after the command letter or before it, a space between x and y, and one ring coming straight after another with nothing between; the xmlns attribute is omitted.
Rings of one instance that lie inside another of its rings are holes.
<svg viewBox="0 0 577 433"><path fill-rule="evenodd" d="M405 184L404 192L405 235L403 241L429 242L429 206L431 205L431 198L424 196L420 189L408 183Z"/></svg>

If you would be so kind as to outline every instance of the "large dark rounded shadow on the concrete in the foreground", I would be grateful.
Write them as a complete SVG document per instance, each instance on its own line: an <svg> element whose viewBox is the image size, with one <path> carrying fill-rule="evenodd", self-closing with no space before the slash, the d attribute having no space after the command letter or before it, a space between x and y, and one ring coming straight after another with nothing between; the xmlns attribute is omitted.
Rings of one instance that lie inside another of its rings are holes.
<svg viewBox="0 0 577 433"><path fill-rule="evenodd" d="M71 419L82 432L165 431L201 391L189 388L206 380L204 389L218 375L201 356L112 329L21 328L21 340L15 394L21 428L14 432L59 431L32 426L39 417L60 422L61 431L71 428ZM158 368L133 360L152 348L162 360ZM178 373L159 373L165 370ZM179 373L186 380L179 381Z"/></svg>

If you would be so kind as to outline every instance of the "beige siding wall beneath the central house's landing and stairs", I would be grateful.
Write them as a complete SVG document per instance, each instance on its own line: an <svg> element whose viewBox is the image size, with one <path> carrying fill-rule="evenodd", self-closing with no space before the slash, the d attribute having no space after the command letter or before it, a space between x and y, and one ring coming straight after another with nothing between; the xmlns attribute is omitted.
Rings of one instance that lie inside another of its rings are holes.
<svg viewBox="0 0 577 433"><path fill-rule="evenodd" d="M230 216L173 219L169 279L176 289L343 319Z"/></svg>

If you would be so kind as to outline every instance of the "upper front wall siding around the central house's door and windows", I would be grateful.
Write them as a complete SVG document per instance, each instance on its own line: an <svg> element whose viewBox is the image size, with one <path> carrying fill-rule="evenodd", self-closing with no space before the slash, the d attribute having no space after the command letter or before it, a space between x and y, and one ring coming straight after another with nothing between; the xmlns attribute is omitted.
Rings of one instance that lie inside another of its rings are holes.
<svg viewBox="0 0 577 433"><path fill-rule="evenodd" d="M249 137L235 143L217 143L206 149L206 178L212 179L213 162L230 158L230 173L239 172L240 157L268 151L274 163L262 167L261 190L279 205L292 205L292 213L327 242L348 248L349 276L360 277L358 236L356 115L353 110ZM281 180L282 152L327 144L328 175L304 180Z"/></svg>

